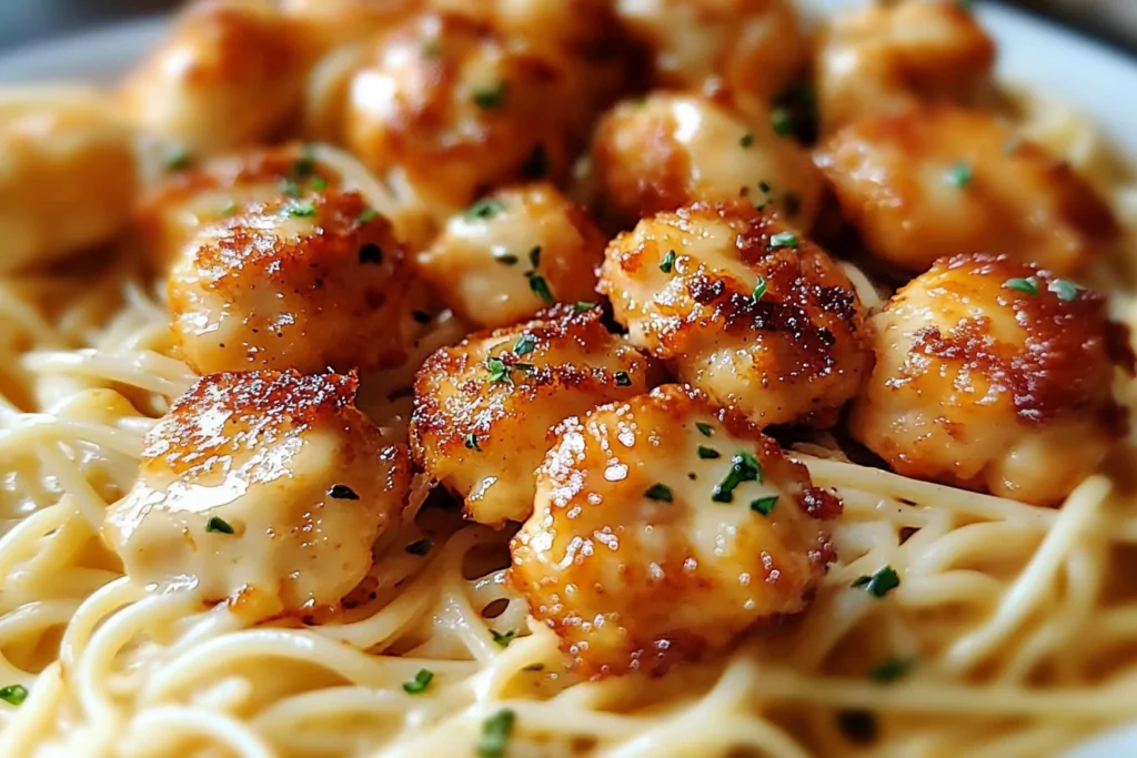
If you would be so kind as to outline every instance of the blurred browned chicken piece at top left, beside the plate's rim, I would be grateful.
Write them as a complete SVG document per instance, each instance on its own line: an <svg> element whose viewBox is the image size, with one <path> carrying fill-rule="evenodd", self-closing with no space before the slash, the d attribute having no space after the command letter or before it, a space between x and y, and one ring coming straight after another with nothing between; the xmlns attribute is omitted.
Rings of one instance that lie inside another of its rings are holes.
<svg viewBox="0 0 1137 758"><path fill-rule="evenodd" d="M276 136L296 116L318 45L265 0L192 5L165 43L119 89L142 132L197 157Z"/></svg>

